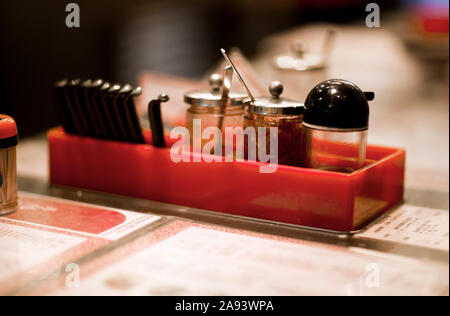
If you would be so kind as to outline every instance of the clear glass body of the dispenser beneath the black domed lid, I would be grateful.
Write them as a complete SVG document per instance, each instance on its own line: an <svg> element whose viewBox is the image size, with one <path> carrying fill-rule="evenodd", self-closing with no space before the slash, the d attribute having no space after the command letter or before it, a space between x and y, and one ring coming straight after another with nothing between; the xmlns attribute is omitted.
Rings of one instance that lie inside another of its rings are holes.
<svg viewBox="0 0 450 316"><path fill-rule="evenodd" d="M330 131L303 126L302 164L307 168L351 173L364 166L367 130Z"/></svg>

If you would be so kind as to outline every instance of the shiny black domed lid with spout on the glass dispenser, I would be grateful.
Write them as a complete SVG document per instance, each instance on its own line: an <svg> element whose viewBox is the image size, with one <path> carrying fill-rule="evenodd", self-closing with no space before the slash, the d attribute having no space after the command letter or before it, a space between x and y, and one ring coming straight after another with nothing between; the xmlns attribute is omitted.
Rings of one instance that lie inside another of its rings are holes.
<svg viewBox="0 0 450 316"><path fill-rule="evenodd" d="M363 92L343 79L331 79L316 85L305 100L303 125L307 127L358 131L369 126L369 103L373 92Z"/></svg>

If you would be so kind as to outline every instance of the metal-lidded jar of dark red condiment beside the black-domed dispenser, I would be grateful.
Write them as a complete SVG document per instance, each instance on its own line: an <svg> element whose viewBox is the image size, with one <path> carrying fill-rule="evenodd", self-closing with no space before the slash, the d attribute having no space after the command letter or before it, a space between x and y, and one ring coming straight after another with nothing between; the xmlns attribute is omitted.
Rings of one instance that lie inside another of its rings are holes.
<svg viewBox="0 0 450 316"><path fill-rule="evenodd" d="M247 99L248 113L244 118L245 128L253 127L256 139L245 142L245 157L249 159L248 146L256 145L256 159L259 146L265 145L265 153L270 152L270 127L278 128L278 164L300 166L302 150L302 118L304 107L299 101L280 97L283 85L279 81L270 84L270 97ZM258 129L265 128L266 144L260 144ZM264 148L264 147L263 147Z"/></svg>

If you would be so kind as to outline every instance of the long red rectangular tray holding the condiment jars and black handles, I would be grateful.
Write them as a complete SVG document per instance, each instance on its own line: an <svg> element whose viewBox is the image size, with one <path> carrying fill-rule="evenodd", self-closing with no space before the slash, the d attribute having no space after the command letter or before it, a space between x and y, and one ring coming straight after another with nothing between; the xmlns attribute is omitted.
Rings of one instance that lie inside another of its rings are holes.
<svg viewBox="0 0 450 316"><path fill-rule="evenodd" d="M368 145L366 165L348 174L284 165L260 173L260 162L175 163L169 148L145 136L149 144L136 145L53 129L50 182L340 232L363 228L403 199L403 149Z"/></svg>

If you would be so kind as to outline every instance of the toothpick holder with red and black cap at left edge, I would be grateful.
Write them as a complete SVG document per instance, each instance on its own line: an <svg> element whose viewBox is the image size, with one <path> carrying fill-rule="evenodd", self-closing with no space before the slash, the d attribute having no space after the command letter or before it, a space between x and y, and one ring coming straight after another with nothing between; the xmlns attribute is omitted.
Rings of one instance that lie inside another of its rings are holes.
<svg viewBox="0 0 450 316"><path fill-rule="evenodd" d="M0 215L17 209L16 146L16 123L0 114Z"/></svg>

